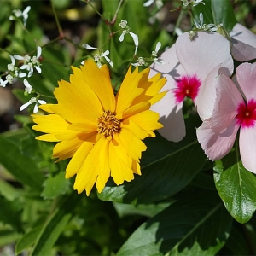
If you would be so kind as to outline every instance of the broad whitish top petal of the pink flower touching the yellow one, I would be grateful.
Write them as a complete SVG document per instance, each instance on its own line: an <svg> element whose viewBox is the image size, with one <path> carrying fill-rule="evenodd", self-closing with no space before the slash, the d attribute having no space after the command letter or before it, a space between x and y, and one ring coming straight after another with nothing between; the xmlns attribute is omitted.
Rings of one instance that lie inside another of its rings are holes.
<svg viewBox="0 0 256 256"><path fill-rule="evenodd" d="M197 37L190 40L189 32L177 38L177 58L188 74L196 74L204 80L207 74L222 64L233 73L234 64L230 54L230 41L218 33L197 32Z"/></svg>

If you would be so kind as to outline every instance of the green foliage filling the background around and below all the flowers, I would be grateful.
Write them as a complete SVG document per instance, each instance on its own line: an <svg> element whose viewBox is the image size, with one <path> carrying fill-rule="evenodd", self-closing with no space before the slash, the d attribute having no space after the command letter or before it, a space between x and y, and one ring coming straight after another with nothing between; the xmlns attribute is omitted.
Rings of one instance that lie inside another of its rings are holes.
<svg viewBox="0 0 256 256"><path fill-rule="evenodd" d="M194 27L192 17L200 20L203 13L205 23L222 23L230 32L256 6L229 0L205 0L188 8L179 0L164 1L164 7L156 2L144 7L143 0L3 1L0 78L6 78L9 55L37 55L41 46L42 72L34 69L27 81L37 100L55 103L57 81L68 79L70 66L79 67L98 53L83 47L89 44L109 50L112 84L118 90L138 56L151 64L158 42L160 52L175 43L177 29L167 31L165 22L172 20L185 32ZM26 26L23 19L9 20L14 9L27 6ZM128 20L138 35L136 55L129 34L119 41L121 20ZM22 81L18 77L4 90L12 88L26 104L30 96ZM237 145L222 160L207 160L195 134L201 120L189 99L183 106L187 135L181 142L168 142L156 132L144 141L142 176L119 186L110 179L101 194L93 189L88 197L73 191L73 178L64 178L68 160L52 160L54 143L35 140L41 133L32 130L33 109L31 104L15 114L19 129L0 134L1 247L15 244L15 253L26 255L256 253L256 176L242 166Z"/></svg>

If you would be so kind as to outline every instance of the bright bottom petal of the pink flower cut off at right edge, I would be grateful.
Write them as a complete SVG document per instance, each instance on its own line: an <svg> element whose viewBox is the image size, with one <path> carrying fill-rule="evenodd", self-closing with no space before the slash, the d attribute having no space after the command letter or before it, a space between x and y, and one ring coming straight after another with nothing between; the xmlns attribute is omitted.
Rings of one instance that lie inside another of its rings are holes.
<svg viewBox="0 0 256 256"><path fill-rule="evenodd" d="M241 128L239 148L243 166L250 172L256 173L256 128Z"/></svg>

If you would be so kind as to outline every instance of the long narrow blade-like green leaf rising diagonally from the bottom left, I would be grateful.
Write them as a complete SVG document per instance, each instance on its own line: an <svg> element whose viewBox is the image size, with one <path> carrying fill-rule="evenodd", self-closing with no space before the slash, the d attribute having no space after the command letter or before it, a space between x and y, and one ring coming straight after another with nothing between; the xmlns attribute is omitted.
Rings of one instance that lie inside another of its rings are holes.
<svg viewBox="0 0 256 256"><path fill-rule="evenodd" d="M55 241L57 241L62 230L64 230L66 224L72 218L73 208L79 203L80 198L75 192L65 196L60 206L56 207L47 223L44 224L38 240L33 247L31 256L49 255L52 247L55 245Z"/></svg>

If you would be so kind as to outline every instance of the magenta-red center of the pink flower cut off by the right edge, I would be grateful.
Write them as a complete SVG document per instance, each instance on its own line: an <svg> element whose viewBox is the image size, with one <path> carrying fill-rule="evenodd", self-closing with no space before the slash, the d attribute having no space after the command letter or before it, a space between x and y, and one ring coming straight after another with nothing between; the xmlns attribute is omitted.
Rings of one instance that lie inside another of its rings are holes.
<svg viewBox="0 0 256 256"><path fill-rule="evenodd" d="M250 100L241 102L237 108L236 123L241 125L241 128L253 127L256 124L256 101Z"/></svg>

